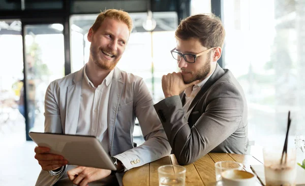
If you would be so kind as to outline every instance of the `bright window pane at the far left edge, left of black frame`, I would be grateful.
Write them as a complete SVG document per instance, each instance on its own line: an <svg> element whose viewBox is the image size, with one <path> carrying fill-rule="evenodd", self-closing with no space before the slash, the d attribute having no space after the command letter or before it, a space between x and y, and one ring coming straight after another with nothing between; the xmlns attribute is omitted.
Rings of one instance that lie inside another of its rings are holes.
<svg viewBox="0 0 305 186"><path fill-rule="evenodd" d="M25 140L24 118L18 109L24 103L20 100L23 57L19 20L0 20L0 62L0 141L10 138L14 144Z"/></svg>

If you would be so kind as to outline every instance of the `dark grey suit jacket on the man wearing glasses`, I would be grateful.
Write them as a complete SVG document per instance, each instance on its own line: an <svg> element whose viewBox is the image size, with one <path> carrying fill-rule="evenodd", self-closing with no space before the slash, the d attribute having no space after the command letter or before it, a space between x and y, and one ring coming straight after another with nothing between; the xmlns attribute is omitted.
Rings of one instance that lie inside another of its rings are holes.
<svg viewBox="0 0 305 186"><path fill-rule="evenodd" d="M228 69L217 65L191 103L188 120L184 101L182 93L154 105L179 164L190 164L209 152L246 153L247 102Z"/></svg>

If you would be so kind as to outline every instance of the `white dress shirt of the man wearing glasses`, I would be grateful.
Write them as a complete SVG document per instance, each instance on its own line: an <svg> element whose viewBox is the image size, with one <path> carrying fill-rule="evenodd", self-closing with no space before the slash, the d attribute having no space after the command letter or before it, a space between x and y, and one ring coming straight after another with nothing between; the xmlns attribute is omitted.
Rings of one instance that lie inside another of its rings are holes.
<svg viewBox="0 0 305 186"><path fill-rule="evenodd" d="M215 71L215 69L214 69ZM213 73L214 73L213 71ZM198 94L198 92L200 91L200 89L203 87L203 85L207 82L207 80L212 76L211 73L206 79L202 80L200 83L198 83L197 85L194 85L193 88L192 87L188 87L186 90L185 90L185 94L186 94L186 102L185 104L183 105L183 108L185 110L185 113L186 113L186 119L189 120L189 117L190 117L190 114L191 114L191 111L192 110L189 110L189 107L192 103L192 101L194 100L195 96Z"/></svg>

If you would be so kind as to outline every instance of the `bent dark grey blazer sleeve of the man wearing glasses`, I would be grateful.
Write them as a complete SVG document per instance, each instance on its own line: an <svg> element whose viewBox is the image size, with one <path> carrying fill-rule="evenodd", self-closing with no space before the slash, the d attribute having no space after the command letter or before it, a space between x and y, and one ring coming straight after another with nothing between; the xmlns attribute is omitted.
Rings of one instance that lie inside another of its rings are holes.
<svg viewBox="0 0 305 186"><path fill-rule="evenodd" d="M206 109L190 128L179 96L168 97L154 107L179 164L187 165L209 153L238 128L243 99L238 89L222 83L209 91Z"/></svg>

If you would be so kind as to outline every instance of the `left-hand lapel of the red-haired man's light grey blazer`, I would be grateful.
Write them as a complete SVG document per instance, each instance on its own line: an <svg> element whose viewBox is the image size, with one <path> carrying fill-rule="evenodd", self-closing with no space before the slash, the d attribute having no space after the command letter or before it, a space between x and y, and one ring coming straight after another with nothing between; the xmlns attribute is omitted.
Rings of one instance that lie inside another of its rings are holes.
<svg viewBox="0 0 305 186"><path fill-rule="evenodd" d="M73 79L74 85L68 87L65 126L66 134L76 134L83 69L84 67L76 73Z"/></svg>

